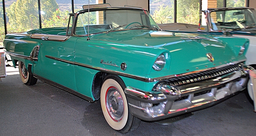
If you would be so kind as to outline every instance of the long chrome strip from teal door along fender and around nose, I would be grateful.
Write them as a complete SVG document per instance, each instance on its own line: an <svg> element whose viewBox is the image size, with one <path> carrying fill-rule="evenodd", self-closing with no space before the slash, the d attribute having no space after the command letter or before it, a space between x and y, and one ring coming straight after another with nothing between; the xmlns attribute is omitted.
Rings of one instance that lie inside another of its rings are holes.
<svg viewBox="0 0 256 136"><path fill-rule="evenodd" d="M106 73L109 73L109 74L115 74L115 75L118 75L118 76L125 76L125 77L128 77L128 78L133 78L133 79L140 80L140 81L143 81L143 82L158 82L160 80L166 80L166 79L169 79L169 78L174 78L174 77L178 77L178 76L185 76L185 75L189 75L189 74L196 74L196 73L199 73L199 72L204 72L204 71L207 71L207 70L213 70L213 69L216 69L216 68L221 68L221 67L224 67L224 66L231 65L231 64L224 64L222 66L218 66L218 67L214 67L214 68L207 68L207 69L204 69L204 70L197 70L197 71L183 73L183 74L162 76L162 77L158 77L158 78L144 78L144 77L141 77L141 76L135 76L135 75L126 74L126 73L123 73L123 72L108 70L108 69L105 69L105 68L90 66L90 65L86 65L86 64L82 64L82 63L78 63L78 62L63 60L61 58L56 58L56 57L52 57L52 56L48 56L48 55L46 55L46 58L50 58L50 59L53 59L53 60L58 60L58 61L61 61L61 62L66 62L66 63L77 65L77 66L82 66L82 67L85 67L85 68L90 68L90 69L93 69L93 70L99 70L101 72L106 72ZM235 64L235 63L233 62L232 64Z"/></svg>

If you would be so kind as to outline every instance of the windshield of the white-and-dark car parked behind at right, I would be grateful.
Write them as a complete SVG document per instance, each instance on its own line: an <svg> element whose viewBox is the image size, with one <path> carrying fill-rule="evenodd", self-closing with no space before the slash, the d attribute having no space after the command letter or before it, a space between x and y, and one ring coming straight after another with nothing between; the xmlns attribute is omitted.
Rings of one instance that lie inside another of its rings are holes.
<svg viewBox="0 0 256 136"><path fill-rule="evenodd" d="M210 13L212 30L234 30L256 26L256 12L253 9L213 11Z"/></svg>

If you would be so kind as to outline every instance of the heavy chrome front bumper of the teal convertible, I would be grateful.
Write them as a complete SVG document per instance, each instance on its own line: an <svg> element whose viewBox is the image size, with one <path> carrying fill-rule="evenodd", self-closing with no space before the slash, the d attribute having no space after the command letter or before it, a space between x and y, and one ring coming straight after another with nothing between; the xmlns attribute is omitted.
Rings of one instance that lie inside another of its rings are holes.
<svg viewBox="0 0 256 136"><path fill-rule="evenodd" d="M231 69L224 68L225 72L222 69L219 75L208 75L204 79L201 76L201 80L198 74L196 78L192 76L193 81L177 84L173 80L163 80L151 92L127 87L125 93L130 111L142 120L157 121L212 106L246 88L250 67Z"/></svg>

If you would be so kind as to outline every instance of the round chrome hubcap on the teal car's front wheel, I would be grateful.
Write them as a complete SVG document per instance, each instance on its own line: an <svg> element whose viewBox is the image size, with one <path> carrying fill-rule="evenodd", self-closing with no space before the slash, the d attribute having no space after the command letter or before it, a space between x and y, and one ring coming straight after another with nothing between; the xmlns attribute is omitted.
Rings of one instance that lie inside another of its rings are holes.
<svg viewBox="0 0 256 136"><path fill-rule="evenodd" d="M108 89L106 94L106 107L108 114L115 121L122 120L124 114L124 102L118 90L114 87Z"/></svg>

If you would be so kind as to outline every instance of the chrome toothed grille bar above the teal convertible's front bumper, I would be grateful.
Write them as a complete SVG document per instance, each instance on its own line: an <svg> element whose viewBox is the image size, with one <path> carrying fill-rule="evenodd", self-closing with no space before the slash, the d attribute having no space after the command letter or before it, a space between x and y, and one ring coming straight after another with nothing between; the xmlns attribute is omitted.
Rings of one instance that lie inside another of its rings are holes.
<svg viewBox="0 0 256 136"><path fill-rule="evenodd" d="M200 80L205 80L208 78L214 78L216 76L221 76L223 74L238 70L240 69L240 67L241 67L240 64L234 64L234 65L229 65L229 66L214 69L214 70L207 70L204 72L199 72L199 73L190 74L186 76L178 76L176 78L163 80L162 82L167 82L171 86L176 86L180 84L186 84L186 83L196 82Z"/></svg>

